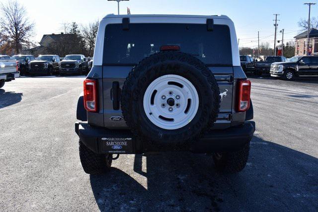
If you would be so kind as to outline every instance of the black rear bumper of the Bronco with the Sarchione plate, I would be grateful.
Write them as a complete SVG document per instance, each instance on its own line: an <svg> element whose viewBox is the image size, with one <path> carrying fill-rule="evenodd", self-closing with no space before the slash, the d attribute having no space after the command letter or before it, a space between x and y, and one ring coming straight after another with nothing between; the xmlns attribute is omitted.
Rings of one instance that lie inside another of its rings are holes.
<svg viewBox="0 0 318 212"><path fill-rule="evenodd" d="M99 154L140 154L148 151L176 150L138 141L129 130L108 130L90 126L87 122L77 122L75 131L89 149ZM242 125L225 130L208 131L200 140L177 150L196 153L233 151L249 142L253 138L254 131L255 122L245 121Z"/></svg>

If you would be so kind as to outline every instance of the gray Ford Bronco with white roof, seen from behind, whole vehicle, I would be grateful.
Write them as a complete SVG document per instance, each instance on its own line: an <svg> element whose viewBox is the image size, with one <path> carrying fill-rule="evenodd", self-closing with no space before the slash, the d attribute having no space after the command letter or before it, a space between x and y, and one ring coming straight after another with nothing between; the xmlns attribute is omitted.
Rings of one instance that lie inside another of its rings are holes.
<svg viewBox="0 0 318 212"><path fill-rule="evenodd" d="M241 171L255 131L250 81L227 16L107 15L77 107L79 157L88 174L119 154L211 154Z"/></svg>

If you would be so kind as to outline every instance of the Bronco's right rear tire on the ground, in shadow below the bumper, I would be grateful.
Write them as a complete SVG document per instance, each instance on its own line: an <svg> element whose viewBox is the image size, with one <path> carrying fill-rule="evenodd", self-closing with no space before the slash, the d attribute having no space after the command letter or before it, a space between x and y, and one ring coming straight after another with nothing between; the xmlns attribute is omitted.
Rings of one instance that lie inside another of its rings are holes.
<svg viewBox="0 0 318 212"><path fill-rule="evenodd" d="M249 142L233 152L214 153L213 161L217 171L232 174L244 169L249 154Z"/></svg>

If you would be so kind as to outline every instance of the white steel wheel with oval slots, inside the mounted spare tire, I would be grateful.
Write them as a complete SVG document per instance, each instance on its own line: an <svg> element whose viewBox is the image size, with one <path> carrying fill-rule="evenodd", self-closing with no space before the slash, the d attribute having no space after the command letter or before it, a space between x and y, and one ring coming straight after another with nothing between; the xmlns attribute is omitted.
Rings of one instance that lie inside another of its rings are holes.
<svg viewBox="0 0 318 212"><path fill-rule="evenodd" d="M145 113L154 125L176 130L190 123L197 114L199 95L189 80L168 74L148 86L143 103Z"/></svg>

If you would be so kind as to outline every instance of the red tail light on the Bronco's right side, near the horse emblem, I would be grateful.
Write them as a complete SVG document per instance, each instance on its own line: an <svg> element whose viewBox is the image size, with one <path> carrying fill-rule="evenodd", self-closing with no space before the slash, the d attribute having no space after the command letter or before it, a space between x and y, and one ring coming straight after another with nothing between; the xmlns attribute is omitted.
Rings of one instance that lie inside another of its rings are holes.
<svg viewBox="0 0 318 212"><path fill-rule="evenodd" d="M238 92L239 98L237 103L237 111L244 112L249 108L250 102L250 81L248 79L243 79L238 81Z"/></svg>

